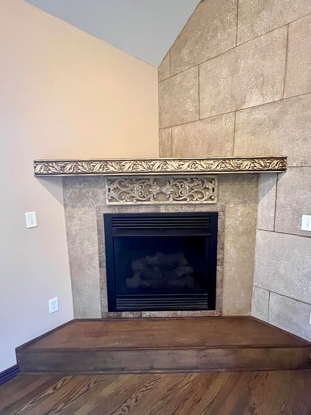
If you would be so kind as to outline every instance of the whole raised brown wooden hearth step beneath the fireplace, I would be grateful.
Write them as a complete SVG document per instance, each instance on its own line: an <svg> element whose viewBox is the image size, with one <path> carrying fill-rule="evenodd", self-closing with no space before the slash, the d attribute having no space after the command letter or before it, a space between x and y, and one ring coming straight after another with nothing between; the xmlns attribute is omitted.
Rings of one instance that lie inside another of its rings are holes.
<svg viewBox="0 0 311 415"><path fill-rule="evenodd" d="M21 372L68 375L304 369L310 353L242 316L73 320L16 350Z"/></svg>

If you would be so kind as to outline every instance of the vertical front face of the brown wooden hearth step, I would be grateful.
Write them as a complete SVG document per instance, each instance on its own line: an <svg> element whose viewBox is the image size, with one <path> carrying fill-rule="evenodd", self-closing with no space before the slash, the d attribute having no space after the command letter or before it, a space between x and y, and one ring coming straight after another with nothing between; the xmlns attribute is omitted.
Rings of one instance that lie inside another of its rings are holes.
<svg viewBox="0 0 311 415"><path fill-rule="evenodd" d="M178 373L305 369L302 347L177 350L40 350L17 355L21 372L63 374Z"/></svg>

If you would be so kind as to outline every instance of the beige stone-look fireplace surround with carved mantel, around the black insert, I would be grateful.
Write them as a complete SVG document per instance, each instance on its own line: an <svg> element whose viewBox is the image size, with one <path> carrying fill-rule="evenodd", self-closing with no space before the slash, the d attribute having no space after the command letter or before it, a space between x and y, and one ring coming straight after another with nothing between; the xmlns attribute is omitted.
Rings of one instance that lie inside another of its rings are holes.
<svg viewBox="0 0 311 415"><path fill-rule="evenodd" d="M200 160L203 159L198 159L199 162ZM138 172L133 169L131 172L102 171L96 174L89 171L87 163L78 164L85 169L84 172L74 170L76 167L72 168L72 164L69 167L71 171L64 171L69 162L35 162L35 175L65 176L63 177L64 208L75 318L219 316L250 313L259 181L259 175L256 173L267 170L285 171L286 158L270 158L269 169L266 168L267 164L259 162L258 169L254 169L253 163L248 164L251 166L249 169L246 166L246 170L239 171L241 166L245 167L244 159L244 164L241 162L234 174L215 175L219 172L190 168L188 171L171 172L172 177L163 175L163 173L168 175L168 171ZM119 164L113 165L112 170L120 167L121 161L117 162ZM172 160L159 159L159 162L164 162L163 167L170 164ZM67 164L64 167L64 164L60 166L61 163ZM77 166L77 161L71 163ZM148 164L143 168L146 166L149 168ZM193 163L190 166L193 166ZM226 173L229 172L230 169L227 169ZM242 174L244 172L248 174ZM118 177L122 173L124 177ZM139 173L143 176L138 177ZM156 178L161 174L160 178ZM133 175L137 176L135 178L137 182L143 182L144 191L140 193L140 197L133 193L133 183L135 183ZM125 179L124 182L127 180L129 184L125 197L120 196L118 181L120 179ZM177 187L182 187L183 182L187 182L189 194L180 197L174 185L178 183ZM167 183L169 186L166 185ZM199 185L201 190L204 183L203 193L196 191L197 183L201 183ZM164 212L219 213L216 310L108 312L103 215Z"/></svg>

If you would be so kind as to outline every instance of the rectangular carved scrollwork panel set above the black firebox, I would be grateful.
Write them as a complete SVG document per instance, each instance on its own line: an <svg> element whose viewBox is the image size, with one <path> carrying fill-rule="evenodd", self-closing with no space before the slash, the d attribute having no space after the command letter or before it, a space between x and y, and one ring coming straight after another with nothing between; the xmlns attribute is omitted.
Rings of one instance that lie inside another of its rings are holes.
<svg viewBox="0 0 311 415"><path fill-rule="evenodd" d="M107 204L216 203L216 177L107 178Z"/></svg>

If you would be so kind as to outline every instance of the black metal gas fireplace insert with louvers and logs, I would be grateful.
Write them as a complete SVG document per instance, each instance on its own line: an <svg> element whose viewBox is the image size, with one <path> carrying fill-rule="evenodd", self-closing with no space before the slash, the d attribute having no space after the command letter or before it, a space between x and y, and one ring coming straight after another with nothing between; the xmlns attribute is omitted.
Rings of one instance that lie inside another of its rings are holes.
<svg viewBox="0 0 311 415"><path fill-rule="evenodd" d="M104 214L108 311L215 310L217 212Z"/></svg>

